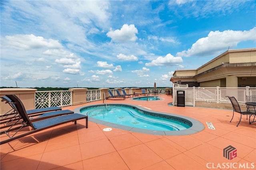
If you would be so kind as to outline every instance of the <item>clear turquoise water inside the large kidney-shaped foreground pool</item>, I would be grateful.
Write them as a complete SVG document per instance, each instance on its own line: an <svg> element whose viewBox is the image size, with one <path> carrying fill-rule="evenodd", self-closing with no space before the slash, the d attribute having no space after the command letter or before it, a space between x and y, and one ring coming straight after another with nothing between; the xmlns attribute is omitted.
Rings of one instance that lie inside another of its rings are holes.
<svg viewBox="0 0 256 170"><path fill-rule="evenodd" d="M89 107L81 110L81 113L110 123L154 131L179 131L191 127L180 121L144 114L143 111L132 107L108 106L107 108L106 106Z"/></svg>

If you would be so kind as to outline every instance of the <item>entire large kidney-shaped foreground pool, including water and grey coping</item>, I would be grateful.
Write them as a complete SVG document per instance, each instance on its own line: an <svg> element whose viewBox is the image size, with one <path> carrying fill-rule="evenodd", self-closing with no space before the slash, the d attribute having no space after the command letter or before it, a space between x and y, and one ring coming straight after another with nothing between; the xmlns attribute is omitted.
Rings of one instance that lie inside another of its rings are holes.
<svg viewBox="0 0 256 170"><path fill-rule="evenodd" d="M152 111L150 108L131 104L108 104L107 106L108 111L106 104L96 104L77 107L74 112L89 115L88 121L97 124L152 135L190 135L205 128L200 121L183 115ZM136 110L137 113L133 113L130 109ZM111 116L108 117L109 115ZM130 119L130 122L126 118Z"/></svg>

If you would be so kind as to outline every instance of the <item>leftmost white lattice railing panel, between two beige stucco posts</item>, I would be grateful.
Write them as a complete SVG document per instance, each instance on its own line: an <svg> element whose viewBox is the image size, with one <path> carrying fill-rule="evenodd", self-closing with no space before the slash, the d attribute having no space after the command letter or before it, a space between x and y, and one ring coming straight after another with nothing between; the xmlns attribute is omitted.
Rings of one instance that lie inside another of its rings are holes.
<svg viewBox="0 0 256 170"><path fill-rule="evenodd" d="M63 107L72 105L72 91L38 91L35 94L35 108Z"/></svg>

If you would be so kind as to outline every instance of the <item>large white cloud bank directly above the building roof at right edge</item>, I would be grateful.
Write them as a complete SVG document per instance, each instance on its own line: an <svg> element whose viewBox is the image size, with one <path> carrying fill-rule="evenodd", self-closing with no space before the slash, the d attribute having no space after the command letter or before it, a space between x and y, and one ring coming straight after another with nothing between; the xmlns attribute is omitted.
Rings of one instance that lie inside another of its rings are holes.
<svg viewBox="0 0 256 170"><path fill-rule="evenodd" d="M210 31L207 37L200 38L187 51L178 52L181 57L218 55L228 47L236 47L241 41L254 40L256 27L249 31Z"/></svg>

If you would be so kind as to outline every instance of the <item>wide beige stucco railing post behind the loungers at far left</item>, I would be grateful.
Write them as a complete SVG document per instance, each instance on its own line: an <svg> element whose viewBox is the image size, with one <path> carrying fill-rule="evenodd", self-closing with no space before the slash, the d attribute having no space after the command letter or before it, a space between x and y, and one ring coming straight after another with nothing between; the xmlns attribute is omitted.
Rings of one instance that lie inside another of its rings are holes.
<svg viewBox="0 0 256 170"><path fill-rule="evenodd" d="M36 89L34 88L1 88L0 96L6 94L15 94L23 103L26 110L35 109L35 95ZM5 102L0 102L0 115L8 112L11 107Z"/></svg>

